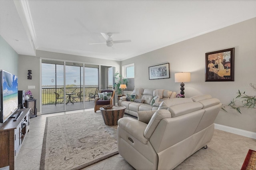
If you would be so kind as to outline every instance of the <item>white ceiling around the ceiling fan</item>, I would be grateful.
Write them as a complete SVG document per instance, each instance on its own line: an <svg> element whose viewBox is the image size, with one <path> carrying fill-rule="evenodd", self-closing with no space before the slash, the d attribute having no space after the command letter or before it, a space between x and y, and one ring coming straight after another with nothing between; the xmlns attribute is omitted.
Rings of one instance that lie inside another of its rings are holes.
<svg viewBox="0 0 256 170"><path fill-rule="evenodd" d="M18 54L122 61L256 17L256 0L0 0L0 35ZM113 47L100 32L119 32Z"/></svg>

